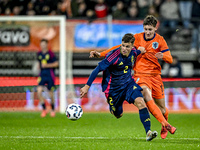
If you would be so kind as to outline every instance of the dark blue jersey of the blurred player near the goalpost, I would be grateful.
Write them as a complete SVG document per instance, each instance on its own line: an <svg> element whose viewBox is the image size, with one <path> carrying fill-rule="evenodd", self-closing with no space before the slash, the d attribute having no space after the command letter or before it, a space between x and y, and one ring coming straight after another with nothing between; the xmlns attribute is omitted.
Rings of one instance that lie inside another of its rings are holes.
<svg viewBox="0 0 200 150"><path fill-rule="evenodd" d="M42 68L41 64L48 64L53 63L56 61L55 54L52 51L47 51L46 53L42 53L42 51L39 51L37 53L37 59L40 62L40 76L41 77L51 77L55 78L55 68Z"/></svg>

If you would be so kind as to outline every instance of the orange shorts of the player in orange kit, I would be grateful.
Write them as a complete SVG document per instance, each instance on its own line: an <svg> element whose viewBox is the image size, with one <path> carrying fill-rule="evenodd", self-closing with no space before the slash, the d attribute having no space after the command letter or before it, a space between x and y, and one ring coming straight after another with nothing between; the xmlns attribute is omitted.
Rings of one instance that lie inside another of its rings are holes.
<svg viewBox="0 0 200 150"><path fill-rule="evenodd" d="M134 79L139 86L147 86L152 91L153 98L165 98L164 85L160 75L145 76L144 74L137 74L134 75Z"/></svg>

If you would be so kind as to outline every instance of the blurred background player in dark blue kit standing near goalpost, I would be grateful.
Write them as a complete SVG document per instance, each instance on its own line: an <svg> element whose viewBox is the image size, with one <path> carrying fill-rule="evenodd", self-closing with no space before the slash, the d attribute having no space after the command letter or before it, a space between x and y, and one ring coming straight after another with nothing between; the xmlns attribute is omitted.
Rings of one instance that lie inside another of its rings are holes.
<svg viewBox="0 0 200 150"><path fill-rule="evenodd" d="M40 65L40 75L38 78L38 87L37 93L40 103L42 105L43 111L41 113L41 117L45 117L47 114L45 99L42 96L42 91L45 85L47 85L47 89L49 91L49 95L51 98L51 108L52 111L50 113L51 117L55 117L54 110L54 95L53 92L55 90L55 68L58 67L58 61L52 51L48 49L48 41L46 39L42 39L40 42L41 51L37 53L37 59Z"/></svg>

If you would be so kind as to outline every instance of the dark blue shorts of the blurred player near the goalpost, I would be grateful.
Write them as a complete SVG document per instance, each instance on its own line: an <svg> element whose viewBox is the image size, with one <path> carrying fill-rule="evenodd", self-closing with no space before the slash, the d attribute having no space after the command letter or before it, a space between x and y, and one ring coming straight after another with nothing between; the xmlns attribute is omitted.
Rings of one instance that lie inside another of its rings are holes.
<svg viewBox="0 0 200 150"><path fill-rule="evenodd" d="M40 76L38 78L38 85L45 86L46 84L47 84L48 90L53 91L55 89L55 84L54 84L54 80L52 79L52 77Z"/></svg>

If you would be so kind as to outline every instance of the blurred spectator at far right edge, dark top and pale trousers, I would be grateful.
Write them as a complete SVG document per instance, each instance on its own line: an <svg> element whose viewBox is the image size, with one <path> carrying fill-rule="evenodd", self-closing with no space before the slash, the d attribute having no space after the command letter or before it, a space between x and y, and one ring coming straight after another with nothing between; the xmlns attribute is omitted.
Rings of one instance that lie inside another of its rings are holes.
<svg viewBox="0 0 200 150"><path fill-rule="evenodd" d="M192 42L190 53L196 53L199 49L200 53L200 0L196 0L192 7L192 21L194 28L192 29Z"/></svg>

